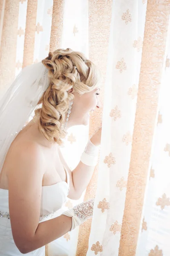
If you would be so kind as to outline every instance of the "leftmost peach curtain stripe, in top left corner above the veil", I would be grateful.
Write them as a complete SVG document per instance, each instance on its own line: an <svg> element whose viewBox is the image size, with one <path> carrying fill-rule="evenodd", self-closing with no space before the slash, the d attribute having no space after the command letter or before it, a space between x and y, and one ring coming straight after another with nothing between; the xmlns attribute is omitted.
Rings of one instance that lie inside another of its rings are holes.
<svg viewBox="0 0 170 256"><path fill-rule="evenodd" d="M6 91L7 81L14 79L17 45L18 0L1 1L0 97Z"/></svg>

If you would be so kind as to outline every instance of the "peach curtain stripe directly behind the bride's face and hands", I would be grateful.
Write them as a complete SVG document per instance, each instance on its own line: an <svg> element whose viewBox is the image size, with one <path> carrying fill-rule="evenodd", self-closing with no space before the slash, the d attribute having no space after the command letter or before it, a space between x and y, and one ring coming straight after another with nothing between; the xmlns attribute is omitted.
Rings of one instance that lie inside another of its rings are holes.
<svg viewBox="0 0 170 256"><path fill-rule="evenodd" d="M104 81L107 69L107 51L109 44L110 21L112 15L112 0L95 1L89 0L89 58L101 69L103 81L101 81L100 99L101 108L95 109L90 118L89 136L95 130L101 127L103 98L104 98ZM95 197L98 180L98 165L92 179L86 189L84 201ZM91 219L87 220L80 226L78 236L78 246L76 256L85 256L89 246L89 235L91 229Z"/></svg>

